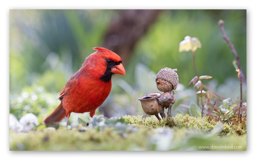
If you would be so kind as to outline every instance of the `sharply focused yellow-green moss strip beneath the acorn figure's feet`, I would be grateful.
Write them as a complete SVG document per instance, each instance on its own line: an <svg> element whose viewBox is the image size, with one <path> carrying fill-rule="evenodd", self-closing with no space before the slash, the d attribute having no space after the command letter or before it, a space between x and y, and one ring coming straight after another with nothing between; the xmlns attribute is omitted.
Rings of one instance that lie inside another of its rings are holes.
<svg viewBox="0 0 256 160"><path fill-rule="evenodd" d="M173 127L179 129L187 128L208 132L209 130L215 128L215 126L221 125L223 130L221 131L220 134L222 135L230 135L236 133L238 135L246 134L246 121L244 123L221 122L213 116L206 116L201 118L189 116L188 114L182 115L178 113L170 121L168 121L167 118L164 118L163 121L158 121L157 118L155 118L154 116L143 118L139 115L125 115L123 118L126 120L128 124L137 127Z"/></svg>

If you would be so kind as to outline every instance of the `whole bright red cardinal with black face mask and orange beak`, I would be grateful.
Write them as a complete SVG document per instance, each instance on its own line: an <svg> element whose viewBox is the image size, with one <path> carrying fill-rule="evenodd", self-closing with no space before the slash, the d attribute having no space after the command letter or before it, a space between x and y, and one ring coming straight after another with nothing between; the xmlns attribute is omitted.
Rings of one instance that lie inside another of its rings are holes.
<svg viewBox="0 0 256 160"><path fill-rule="evenodd" d="M68 124L71 112L90 112L90 117L93 117L110 93L111 76L114 73L126 74L122 59L116 53L101 47L93 49L96 52L88 56L82 67L67 81L58 98L61 104L43 119L44 124L57 123L65 116Z"/></svg>

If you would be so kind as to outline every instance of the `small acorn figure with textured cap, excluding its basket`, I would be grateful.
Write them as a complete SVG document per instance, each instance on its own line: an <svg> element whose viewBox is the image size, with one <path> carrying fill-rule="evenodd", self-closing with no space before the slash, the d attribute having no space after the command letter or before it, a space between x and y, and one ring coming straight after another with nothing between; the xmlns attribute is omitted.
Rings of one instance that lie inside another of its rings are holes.
<svg viewBox="0 0 256 160"><path fill-rule="evenodd" d="M162 93L159 98L157 98L158 103L162 105L162 110L160 111L160 115L162 118L165 118L166 115L164 113L164 108L168 108L167 115L168 117L172 117L171 109L172 104L175 104L176 98L173 90L176 90L179 83L179 76L177 75L177 69L171 68L163 68L161 69L156 77L157 89Z"/></svg>

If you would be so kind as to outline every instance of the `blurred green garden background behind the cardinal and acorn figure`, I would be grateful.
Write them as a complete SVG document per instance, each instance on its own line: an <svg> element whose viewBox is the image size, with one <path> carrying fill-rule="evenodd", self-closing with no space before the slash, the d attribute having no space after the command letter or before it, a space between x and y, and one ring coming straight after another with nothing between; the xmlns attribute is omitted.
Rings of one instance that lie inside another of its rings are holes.
<svg viewBox="0 0 256 160"><path fill-rule="evenodd" d="M18 119L32 112L41 123L93 47L119 54L126 70L126 76L113 76L111 94L96 114L145 115L138 98L159 92L154 77L164 67L178 70L172 115L185 114L196 101L195 89L188 87L195 76L192 53L179 53L187 35L202 45L195 51L197 74L212 76L203 84L240 100L235 57L217 22L224 20L246 76L246 10L10 10L9 15L9 109ZM88 114L72 113L71 121L77 116Z"/></svg>

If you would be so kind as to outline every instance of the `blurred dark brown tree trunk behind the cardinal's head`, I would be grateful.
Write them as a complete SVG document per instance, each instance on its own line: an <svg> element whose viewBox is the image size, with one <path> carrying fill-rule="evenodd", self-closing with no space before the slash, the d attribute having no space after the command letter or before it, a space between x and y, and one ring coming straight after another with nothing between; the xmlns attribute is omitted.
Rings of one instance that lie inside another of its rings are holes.
<svg viewBox="0 0 256 160"><path fill-rule="evenodd" d="M161 10L121 10L113 17L102 46L117 53L127 64L136 43L155 22Z"/></svg>

